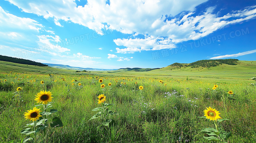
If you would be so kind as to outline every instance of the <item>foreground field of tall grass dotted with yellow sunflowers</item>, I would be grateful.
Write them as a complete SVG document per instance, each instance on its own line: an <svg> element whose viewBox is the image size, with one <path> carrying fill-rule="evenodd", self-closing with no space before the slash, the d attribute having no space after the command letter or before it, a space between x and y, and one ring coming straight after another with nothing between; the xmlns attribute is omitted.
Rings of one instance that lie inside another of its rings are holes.
<svg viewBox="0 0 256 143"><path fill-rule="evenodd" d="M256 78L0 74L0 142L255 143Z"/></svg>

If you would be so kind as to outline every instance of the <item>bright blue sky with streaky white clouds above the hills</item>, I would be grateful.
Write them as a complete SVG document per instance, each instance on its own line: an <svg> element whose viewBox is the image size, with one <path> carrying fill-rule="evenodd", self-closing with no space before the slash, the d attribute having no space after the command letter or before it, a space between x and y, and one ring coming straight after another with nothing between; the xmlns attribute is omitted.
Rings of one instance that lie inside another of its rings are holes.
<svg viewBox="0 0 256 143"><path fill-rule="evenodd" d="M0 54L117 69L256 60L252 0L0 0Z"/></svg>

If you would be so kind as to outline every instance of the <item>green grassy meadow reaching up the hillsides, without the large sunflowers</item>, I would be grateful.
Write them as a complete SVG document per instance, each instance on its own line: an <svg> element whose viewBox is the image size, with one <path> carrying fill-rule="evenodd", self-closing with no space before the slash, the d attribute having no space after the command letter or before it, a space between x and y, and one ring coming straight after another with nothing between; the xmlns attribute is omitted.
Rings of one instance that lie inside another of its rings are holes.
<svg viewBox="0 0 256 143"><path fill-rule="evenodd" d="M256 86L250 79L256 76L256 62L239 62L211 68L77 73L1 61L0 142L33 137L21 134L26 124L33 123L25 120L24 113L39 104L34 99L46 90L52 92L50 109L57 109L49 120L59 117L63 127L48 126L46 136L39 131L37 142L208 143L203 136L209 135L200 131L215 128L214 123L198 117L212 107L229 119L219 123L223 131L232 132L227 142L256 143ZM214 85L218 87L213 89ZM19 98L13 94L18 87ZM97 101L101 94L106 96L104 103L114 104L108 110L118 113L110 116L109 126L103 126L100 118L89 120L97 113L92 110L101 107Z"/></svg>

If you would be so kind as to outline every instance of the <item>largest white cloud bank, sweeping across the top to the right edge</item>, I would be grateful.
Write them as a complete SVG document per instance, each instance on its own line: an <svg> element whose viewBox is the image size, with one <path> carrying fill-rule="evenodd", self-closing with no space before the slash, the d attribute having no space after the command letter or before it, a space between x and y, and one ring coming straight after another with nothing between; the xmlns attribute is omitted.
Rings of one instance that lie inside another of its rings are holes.
<svg viewBox="0 0 256 143"><path fill-rule="evenodd" d="M207 0L110 0L110 5L105 0L88 0L85 6L77 6L73 0L8 1L25 12L42 15L46 19L52 18L58 26L61 26L59 21L62 20L83 25L99 34L102 34L103 28L126 34L134 33L133 36L148 35L144 39L115 39L117 45L126 47L117 47L117 53L174 48L177 43L198 40L230 24L256 17L256 6L230 11L220 17L214 13L216 7L208 7L202 14L194 16L195 7ZM183 14L184 11L188 13ZM39 29L36 25L27 27Z"/></svg>

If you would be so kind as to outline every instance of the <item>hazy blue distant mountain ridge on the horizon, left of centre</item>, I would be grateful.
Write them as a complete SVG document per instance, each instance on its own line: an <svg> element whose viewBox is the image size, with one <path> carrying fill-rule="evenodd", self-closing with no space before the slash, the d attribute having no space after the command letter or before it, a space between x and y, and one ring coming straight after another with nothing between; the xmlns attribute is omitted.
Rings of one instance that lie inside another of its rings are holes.
<svg viewBox="0 0 256 143"><path fill-rule="evenodd" d="M55 67L55 68L60 68L60 69L71 69L71 70L78 70L78 71L112 71L112 70L117 70L117 69L100 69L100 68L83 68L83 67L73 67L69 65L63 65L63 64L52 64L52 63L44 63L47 64L48 66Z"/></svg>

